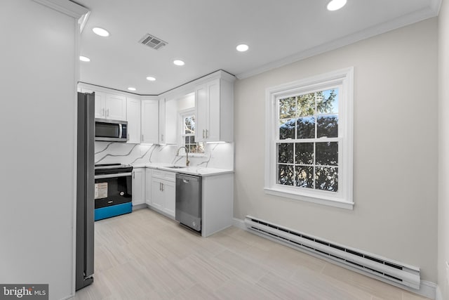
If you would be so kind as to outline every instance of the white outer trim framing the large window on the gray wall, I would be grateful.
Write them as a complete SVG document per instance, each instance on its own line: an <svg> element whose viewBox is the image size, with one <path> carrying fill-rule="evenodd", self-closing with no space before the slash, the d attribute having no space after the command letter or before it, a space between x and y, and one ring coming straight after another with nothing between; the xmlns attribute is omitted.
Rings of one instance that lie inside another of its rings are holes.
<svg viewBox="0 0 449 300"><path fill-rule="evenodd" d="M276 183L276 98L306 91L342 86L339 98L338 139L339 160L338 192L309 190ZM268 88L265 93L265 193L290 199L324 204L343 209L354 209L353 202L353 135L354 135L354 67L321 74ZM340 145L341 144L341 145ZM340 153L339 153L340 159Z"/></svg>

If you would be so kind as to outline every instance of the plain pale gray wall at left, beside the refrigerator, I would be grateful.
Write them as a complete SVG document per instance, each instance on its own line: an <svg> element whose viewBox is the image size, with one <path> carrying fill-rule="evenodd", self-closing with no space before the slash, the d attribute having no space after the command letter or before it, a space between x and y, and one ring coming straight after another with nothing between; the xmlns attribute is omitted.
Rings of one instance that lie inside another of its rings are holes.
<svg viewBox="0 0 449 300"><path fill-rule="evenodd" d="M74 18L1 0L0 282L72 294Z"/></svg>

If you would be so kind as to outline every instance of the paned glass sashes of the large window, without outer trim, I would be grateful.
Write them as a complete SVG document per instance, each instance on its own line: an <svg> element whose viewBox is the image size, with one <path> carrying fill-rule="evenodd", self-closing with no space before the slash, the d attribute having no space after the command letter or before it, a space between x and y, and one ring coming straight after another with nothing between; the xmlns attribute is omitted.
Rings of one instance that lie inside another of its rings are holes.
<svg viewBox="0 0 449 300"><path fill-rule="evenodd" d="M278 100L277 180L338 191L338 89Z"/></svg>

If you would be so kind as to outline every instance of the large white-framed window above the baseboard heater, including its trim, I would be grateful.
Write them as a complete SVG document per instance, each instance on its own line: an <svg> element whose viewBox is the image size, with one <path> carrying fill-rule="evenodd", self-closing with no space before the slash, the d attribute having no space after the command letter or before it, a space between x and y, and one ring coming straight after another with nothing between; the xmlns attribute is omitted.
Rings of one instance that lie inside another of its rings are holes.
<svg viewBox="0 0 449 300"><path fill-rule="evenodd" d="M352 209L354 68L266 91L265 193Z"/></svg>

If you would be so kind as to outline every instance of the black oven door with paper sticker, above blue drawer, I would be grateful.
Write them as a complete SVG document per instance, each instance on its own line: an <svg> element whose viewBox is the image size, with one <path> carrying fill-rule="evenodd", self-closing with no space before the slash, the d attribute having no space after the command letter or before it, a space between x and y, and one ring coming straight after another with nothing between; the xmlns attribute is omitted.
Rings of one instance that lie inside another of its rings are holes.
<svg viewBox="0 0 449 300"><path fill-rule="evenodd" d="M131 202L131 173L95 175L95 209Z"/></svg>

